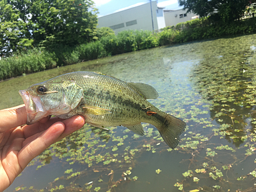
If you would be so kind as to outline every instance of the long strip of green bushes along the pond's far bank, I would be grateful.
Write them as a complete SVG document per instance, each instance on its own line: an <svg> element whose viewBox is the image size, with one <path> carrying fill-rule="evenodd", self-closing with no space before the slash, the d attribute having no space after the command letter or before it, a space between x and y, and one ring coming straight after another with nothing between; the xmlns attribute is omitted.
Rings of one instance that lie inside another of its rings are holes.
<svg viewBox="0 0 256 192"><path fill-rule="evenodd" d="M207 17L189 20L176 26L165 27L162 32L122 31L115 35L110 28L98 29L98 40L88 44L68 47L54 45L46 51L32 49L0 60L0 79L70 65L81 60L91 60L120 53L149 49L193 40L256 32L256 18L222 24L213 23ZM101 32L100 32L101 31ZM100 34L102 33L102 34Z"/></svg>

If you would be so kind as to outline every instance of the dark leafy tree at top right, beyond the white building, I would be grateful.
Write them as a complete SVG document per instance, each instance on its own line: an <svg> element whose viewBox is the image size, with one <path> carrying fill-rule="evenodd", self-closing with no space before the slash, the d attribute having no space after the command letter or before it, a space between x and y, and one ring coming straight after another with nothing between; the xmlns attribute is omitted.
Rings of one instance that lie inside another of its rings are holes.
<svg viewBox="0 0 256 192"><path fill-rule="evenodd" d="M255 2L255 0L179 0L179 5L184 6L187 12L193 11L200 17L210 15L214 20L227 23L239 19L246 7Z"/></svg>

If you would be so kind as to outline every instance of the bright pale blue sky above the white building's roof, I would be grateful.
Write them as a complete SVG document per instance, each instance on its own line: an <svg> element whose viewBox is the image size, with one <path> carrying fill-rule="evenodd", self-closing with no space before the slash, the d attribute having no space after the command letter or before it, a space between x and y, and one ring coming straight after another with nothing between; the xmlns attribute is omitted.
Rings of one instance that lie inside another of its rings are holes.
<svg viewBox="0 0 256 192"><path fill-rule="evenodd" d="M152 0L156 1L156 0ZM98 16L108 15L125 8L131 8L143 3L149 2L149 0L93 0L98 8ZM165 7L166 9L181 9L179 7L178 0L158 0L158 6Z"/></svg>

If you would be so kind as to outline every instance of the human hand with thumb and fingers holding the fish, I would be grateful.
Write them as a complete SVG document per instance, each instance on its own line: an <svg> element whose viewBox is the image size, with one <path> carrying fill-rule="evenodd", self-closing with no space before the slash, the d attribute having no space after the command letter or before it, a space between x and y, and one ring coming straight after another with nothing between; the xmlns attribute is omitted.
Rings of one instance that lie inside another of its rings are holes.
<svg viewBox="0 0 256 192"><path fill-rule="evenodd" d="M65 120L45 117L24 125L27 121L24 104L0 110L0 120L0 191L9 187L33 158L84 125L82 116Z"/></svg>

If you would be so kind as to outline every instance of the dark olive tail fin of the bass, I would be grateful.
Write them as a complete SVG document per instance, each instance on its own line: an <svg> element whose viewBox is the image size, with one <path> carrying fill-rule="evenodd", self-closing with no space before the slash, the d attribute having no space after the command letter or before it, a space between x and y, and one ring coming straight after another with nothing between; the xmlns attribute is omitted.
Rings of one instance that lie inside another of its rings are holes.
<svg viewBox="0 0 256 192"><path fill-rule="evenodd" d="M162 126L157 127L163 140L170 148L175 148L180 141L180 135L184 132L186 123L172 115L166 114Z"/></svg>

